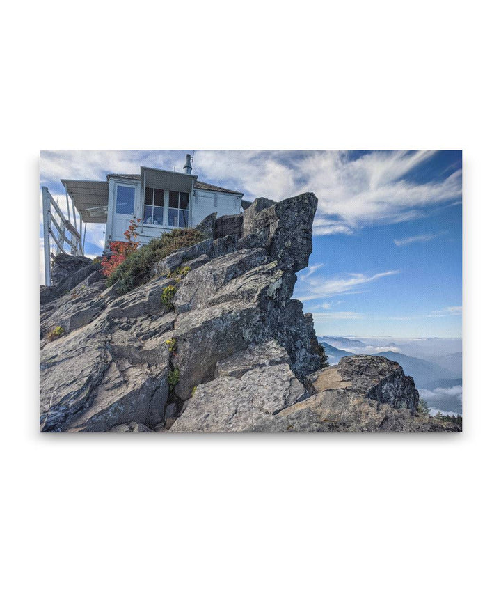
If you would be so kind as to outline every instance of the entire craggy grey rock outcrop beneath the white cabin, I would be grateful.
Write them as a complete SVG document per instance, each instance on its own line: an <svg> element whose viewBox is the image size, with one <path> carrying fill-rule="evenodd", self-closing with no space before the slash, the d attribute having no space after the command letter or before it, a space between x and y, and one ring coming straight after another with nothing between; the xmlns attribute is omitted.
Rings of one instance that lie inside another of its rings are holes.
<svg viewBox="0 0 501 596"><path fill-rule="evenodd" d="M312 316L291 299L316 208L307 193L209 216L206 240L120 297L96 265L42 289L41 430L454 430L415 414L419 396L397 363L353 356L318 373ZM190 268L182 279L180 265ZM161 301L167 285L173 310Z"/></svg>

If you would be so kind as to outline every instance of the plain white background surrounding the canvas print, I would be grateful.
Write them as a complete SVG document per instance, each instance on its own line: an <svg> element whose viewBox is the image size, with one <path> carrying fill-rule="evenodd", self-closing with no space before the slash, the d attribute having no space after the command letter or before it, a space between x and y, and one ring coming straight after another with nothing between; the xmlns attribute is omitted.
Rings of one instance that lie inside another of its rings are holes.
<svg viewBox="0 0 501 596"><path fill-rule="evenodd" d="M3 7L4 593L495 592L496 10ZM38 150L186 147L463 148L462 435L38 434Z"/></svg>

